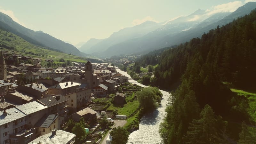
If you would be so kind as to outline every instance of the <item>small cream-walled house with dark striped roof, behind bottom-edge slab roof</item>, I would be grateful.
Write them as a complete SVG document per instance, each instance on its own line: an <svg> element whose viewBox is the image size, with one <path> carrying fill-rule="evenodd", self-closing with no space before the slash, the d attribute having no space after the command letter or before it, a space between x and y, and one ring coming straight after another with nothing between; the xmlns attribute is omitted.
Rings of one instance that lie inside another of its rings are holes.
<svg viewBox="0 0 256 144"><path fill-rule="evenodd" d="M58 116L59 115L46 114L35 124L35 127L38 127L38 131L41 132L41 135L50 133L54 129L60 129Z"/></svg>

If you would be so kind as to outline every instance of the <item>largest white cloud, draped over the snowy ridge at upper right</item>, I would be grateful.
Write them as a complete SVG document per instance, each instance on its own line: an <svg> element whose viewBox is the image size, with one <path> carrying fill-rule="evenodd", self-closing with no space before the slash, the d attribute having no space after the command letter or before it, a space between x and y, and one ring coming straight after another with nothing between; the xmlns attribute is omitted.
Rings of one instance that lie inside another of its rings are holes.
<svg viewBox="0 0 256 144"><path fill-rule="evenodd" d="M242 5L243 3L241 1L234 1L226 4L212 6L211 9L206 10L206 12L207 12L207 15L212 15L219 12L234 12L238 7Z"/></svg>

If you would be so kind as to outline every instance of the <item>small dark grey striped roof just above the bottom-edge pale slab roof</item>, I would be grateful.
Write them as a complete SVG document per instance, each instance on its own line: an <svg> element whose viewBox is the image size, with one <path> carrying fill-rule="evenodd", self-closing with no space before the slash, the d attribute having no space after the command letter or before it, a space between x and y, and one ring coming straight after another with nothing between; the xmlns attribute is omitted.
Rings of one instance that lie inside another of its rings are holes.
<svg viewBox="0 0 256 144"><path fill-rule="evenodd" d="M59 115L44 115L36 124L36 127L48 128Z"/></svg>

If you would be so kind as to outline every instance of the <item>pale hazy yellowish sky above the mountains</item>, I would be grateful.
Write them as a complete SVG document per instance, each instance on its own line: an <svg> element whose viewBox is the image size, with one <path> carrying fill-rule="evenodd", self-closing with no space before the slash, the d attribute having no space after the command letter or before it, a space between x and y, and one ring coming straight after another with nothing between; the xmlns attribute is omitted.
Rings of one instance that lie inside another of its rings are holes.
<svg viewBox="0 0 256 144"><path fill-rule="evenodd" d="M103 39L147 20L164 22L197 9L233 12L256 0L1 0L0 12L70 44Z"/></svg>

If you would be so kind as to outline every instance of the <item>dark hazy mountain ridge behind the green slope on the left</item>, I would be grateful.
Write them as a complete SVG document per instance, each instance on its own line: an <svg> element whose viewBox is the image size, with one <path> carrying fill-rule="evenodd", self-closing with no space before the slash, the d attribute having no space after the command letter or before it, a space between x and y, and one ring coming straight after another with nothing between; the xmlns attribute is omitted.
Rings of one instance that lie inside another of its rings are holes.
<svg viewBox="0 0 256 144"><path fill-rule="evenodd" d="M39 46L45 46L65 53L84 56L74 45L65 43L43 31L33 31L13 21L8 15L0 12L0 28L16 34L26 41Z"/></svg>

